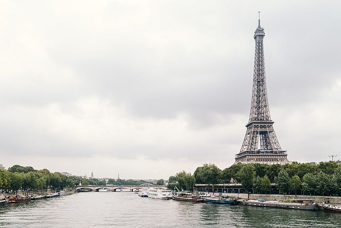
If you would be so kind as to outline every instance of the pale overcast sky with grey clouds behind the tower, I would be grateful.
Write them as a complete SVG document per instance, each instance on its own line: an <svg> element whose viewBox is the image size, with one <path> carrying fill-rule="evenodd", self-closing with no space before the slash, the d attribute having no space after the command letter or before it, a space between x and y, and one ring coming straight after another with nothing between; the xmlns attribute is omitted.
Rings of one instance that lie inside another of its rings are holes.
<svg viewBox="0 0 341 228"><path fill-rule="evenodd" d="M288 159L341 159L340 1L0 1L0 164L125 179L234 163L261 11Z"/></svg>

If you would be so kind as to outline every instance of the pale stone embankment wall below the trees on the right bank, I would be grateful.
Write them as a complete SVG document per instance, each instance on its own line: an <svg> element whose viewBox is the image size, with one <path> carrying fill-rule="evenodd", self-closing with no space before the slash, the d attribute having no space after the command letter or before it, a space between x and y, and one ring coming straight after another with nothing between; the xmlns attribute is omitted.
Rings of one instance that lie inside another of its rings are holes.
<svg viewBox="0 0 341 228"><path fill-rule="evenodd" d="M208 193L208 192L206 192ZM212 195L212 192L209 192L209 194ZM234 196L237 197L239 196L242 199L247 198L247 194L245 193L221 193L222 196ZM214 195L218 196L218 193L214 193ZM284 200L284 199L312 199L315 200L316 203L322 204L325 201L329 201L331 204L338 204L341 205L341 197L340 196L310 196L310 195L305 195L303 196L295 196L295 195L263 195L263 194L250 194L249 195L250 199L265 199L265 200Z"/></svg>

